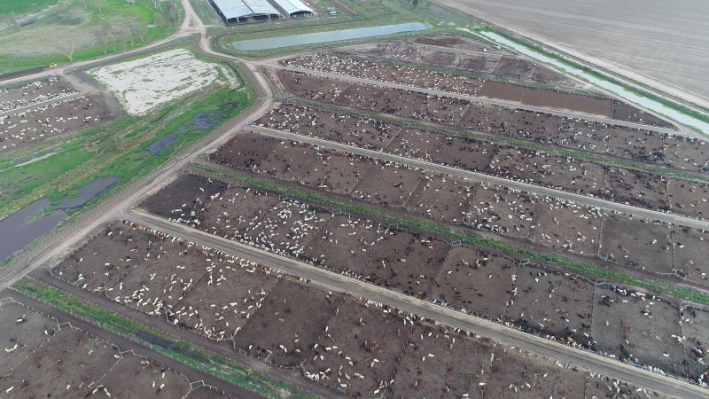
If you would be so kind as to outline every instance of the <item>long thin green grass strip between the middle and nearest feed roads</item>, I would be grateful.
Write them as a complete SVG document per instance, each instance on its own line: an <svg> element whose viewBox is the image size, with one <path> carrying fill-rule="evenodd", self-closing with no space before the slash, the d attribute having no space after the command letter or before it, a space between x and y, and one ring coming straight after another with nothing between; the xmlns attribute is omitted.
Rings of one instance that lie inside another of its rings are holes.
<svg viewBox="0 0 709 399"><path fill-rule="evenodd" d="M264 190L269 190L271 192L277 192L279 194L284 194L291 198L297 198L300 200L307 201L309 203L322 205L324 207L331 207L332 209L342 209L345 212L357 215L366 215L367 217L374 217L379 220L386 221L387 223L397 223L401 227L409 227L420 231L426 231L428 233L443 238L459 240L464 243L470 243L477 246L485 246L487 248L503 251L507 254L510 254L511 256L517 257L518 259L528 259L533 262L545 263L563 268L565 270L583 273L592 278L607 278L608 280L610 280L609 282L611 283L636 286L648 289L655 293L670 294L687 301L695 301L697 303L709 304L709 293L700 292L692 288L686 288L676 285L667 285L647 278L631 276L625 273L620 273L618 271L605 269L604 267L598 266L593 263L579 262L573 259L566 258L562 255L549 254L523 246L510 244L505 241L489 239L486 237L479 236L477 234L473 234L470 231L453 229L446 226L442 226L438 223L427 222L422 219L401 217L399 215L394 215L386 211L382 211L377 207L368 207L366 205L355 204L354 202L335 200L328 197L323 197L322 195L313 191L286 187L280 184L271 183L258 177L239 173L237 171L225 170L223 168L212 167L203 164L194 164L191 165L191 167L195 169L204 170L208 173L214 174L215 176L222 176L224 178L237 181L241 184L247 184Z"/></svg>

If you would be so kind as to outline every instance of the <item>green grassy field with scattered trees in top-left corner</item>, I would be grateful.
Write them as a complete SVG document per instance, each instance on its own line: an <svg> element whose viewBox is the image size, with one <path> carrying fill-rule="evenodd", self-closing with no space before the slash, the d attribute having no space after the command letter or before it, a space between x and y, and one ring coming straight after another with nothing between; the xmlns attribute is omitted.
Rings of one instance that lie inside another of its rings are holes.
<svg viewBox="0 0 709 399"><path fill-rule="evenodd" d="M170 13L168 15L168 3L160 3L160 9L155 9L152 1L141 0L135 4L129 4L125 0L101 0L102 6L100 9L95 3L90 2L88 7L84 7L79 0L59 0L58 7L53 8L50 12L44 13L38 20L22 31L18 29L4 29L0 31L0 48L4 41L23 40L16 39L14 35L30 35L34 31L40 32L36 39L27 41L27 47L35 50L34 55L8 54L0 52L0 74L40 67L48 66L52 63L59 65L69 62L66 54L61 50L61 36L54 35L51 37L43 37L47 32L55 32L66 27L64 25L70 22L63 22L58 16L60 12L88 12L90 18L85 23L80 23L84 35L95 38L103 37L102 33L109 32L105 35L105 44L94 44L89 47L78 48L74 51L73 59L81 61L86 59L97 59L105 54L113 54L122 51L127 51L133 48L141 47L147 43L152 43L161 38L175 32L176 27L182 21L184 14L182 6L177 0L168 0L170 4L175 4L178 14ZM56 1L55 1L56 3ZM2 7L2 6L0 6ZM177 16L180 20L174 20ZM136 21L138 26L144 27L144 36L136 28L126 24L126 20ZM112 25L113 24L113 25ZM74 28L77 25L68 25ZM47 30L47 27L51 27ZM23 36L24 37L24 36ZM49 41L52 46L46 46Z"/></svg>

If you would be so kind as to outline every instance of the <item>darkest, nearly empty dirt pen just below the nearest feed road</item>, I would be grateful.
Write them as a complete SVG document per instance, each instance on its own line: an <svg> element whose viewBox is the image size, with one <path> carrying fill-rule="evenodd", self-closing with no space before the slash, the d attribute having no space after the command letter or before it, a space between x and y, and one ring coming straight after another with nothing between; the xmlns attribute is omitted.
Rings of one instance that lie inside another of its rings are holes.
<svg viewBox="0 0 709 399"><path fill-rule="evenodd" d="M234 346L275 364L300 365L341 301L339 294L280 280L234 338Z"/></svg>

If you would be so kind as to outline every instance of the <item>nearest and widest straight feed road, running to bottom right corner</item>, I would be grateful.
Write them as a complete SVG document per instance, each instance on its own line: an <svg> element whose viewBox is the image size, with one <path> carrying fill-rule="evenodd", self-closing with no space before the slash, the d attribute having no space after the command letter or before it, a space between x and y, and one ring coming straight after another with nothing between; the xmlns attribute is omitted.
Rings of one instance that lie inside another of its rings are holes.
<svg viewBox="0 0 709 399"><path fill-rule="evenodd" d="M311 283L323 288L361 296L371 301L405 310L419 317L439 321L445 325L475 332L479 335L495 340L510 347L525 348L541 356L556 359L563 364L577 366L582 370L612 376L622 381L645 387L673 397L704 398L706 391L701 387L684 383L680 380L664 377L660 374L648 372L629 364L624 364L616 359L599 356L595 353L577 348L567 347L551 340L514 330L503 325L498 325L479 317L472 317L453 309L443 308L430 302L422 301L416 297L396 293L380 286L364 283L356 278L333 273L298 262L284 256L261 251L252 246L246 246L229 239L191 229L178 223L172 223L158 216L133 211L123 218L129 222L138 223L145 227L164 231L175 237L189 239L199 245L209 246L224 253L232 254L249 261L268 265L271 268L284 271L284 273L306 278Z"/></svg>

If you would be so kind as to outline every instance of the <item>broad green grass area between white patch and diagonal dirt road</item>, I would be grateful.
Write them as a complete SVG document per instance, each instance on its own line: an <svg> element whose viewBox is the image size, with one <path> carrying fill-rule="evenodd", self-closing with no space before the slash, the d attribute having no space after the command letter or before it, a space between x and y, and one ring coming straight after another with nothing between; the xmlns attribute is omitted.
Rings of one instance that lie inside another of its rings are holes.
<svg viewBox="0 0 709 399"><path fill-rule="evenodd" d="M253 88L243 84L243 79L238 79L242 86L236 90L215 84L148 115L123 116L116 121L0 156L0 218L45 195L52 202L58 202L97 176L118 177L113 189L99 198L110 195L136 176L144 176L173 153L206 137L208 131L197 129L191 123L195 114L215 113L216 129L251 106L255 99ZM222 112L217 112L219 110ZM144 151L146 145L171 132L179 132L179 140L158 156ZM46 153L54 155L26 163ZM97 200L92 200L88 205Z"/></svg>

